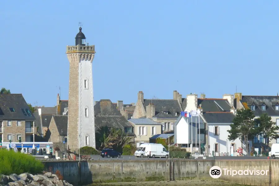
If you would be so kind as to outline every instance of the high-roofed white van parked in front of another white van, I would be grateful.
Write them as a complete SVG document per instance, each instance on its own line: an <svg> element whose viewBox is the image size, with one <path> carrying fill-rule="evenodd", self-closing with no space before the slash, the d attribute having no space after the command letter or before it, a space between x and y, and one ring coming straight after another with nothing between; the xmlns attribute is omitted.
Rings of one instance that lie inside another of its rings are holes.
<svg viewBox="0 0 279 186"><path fill-rule="evenodd" d="M147 157L169 157L169 152L162 144L145 144L144 156Z"/></svg>

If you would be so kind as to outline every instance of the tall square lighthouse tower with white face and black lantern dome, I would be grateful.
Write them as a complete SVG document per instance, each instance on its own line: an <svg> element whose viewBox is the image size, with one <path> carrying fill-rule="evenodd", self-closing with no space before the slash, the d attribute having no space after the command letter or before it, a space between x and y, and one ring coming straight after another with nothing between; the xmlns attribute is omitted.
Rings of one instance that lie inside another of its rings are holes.
<svg viewBox="0 0 279 186"><path fill-rule="evenodd" d="M85 44L82 28L75 46L67 46L70 62L67 147L78 152L84 146L95 148L92 61L95 45Z"/></svg>

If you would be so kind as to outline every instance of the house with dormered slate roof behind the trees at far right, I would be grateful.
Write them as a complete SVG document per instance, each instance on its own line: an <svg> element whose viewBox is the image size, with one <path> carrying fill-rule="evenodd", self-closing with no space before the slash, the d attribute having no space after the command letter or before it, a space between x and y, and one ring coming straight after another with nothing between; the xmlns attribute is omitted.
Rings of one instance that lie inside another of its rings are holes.
<svg viewBox="0 0 279 186"><path fill-rule="evenodd" d="M258 96L258 95L242 95L242 93L235 93L234 107L249 108L253 111L255 119L260 117L263 113L267 113L271 117L272 122L275 122L279 126L279 96ZM277 131L279 134L279 131ZM262 135L257 135L250 143L250 147L253 145L256 151L261 153L261 148L268 150L266 147L266 140ZM270 140L269 144L279 143L279 139ZM249 147L249 149L250 149Z"/></svg>

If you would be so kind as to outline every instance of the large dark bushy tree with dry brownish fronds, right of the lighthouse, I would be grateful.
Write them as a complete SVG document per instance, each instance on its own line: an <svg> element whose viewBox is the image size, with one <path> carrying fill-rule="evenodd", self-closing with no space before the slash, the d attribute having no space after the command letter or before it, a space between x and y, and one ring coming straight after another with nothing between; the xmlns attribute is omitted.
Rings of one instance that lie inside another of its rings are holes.
<svg viewBox="0 0 279 186"><path fill-rule="evenodd" d="M108 128L102 126L96 133L97 148L99 150L104 148L113 148L117 152L122 153L122 149L127 144L132 144L132 137L127 136L120 129Z"/></svg>

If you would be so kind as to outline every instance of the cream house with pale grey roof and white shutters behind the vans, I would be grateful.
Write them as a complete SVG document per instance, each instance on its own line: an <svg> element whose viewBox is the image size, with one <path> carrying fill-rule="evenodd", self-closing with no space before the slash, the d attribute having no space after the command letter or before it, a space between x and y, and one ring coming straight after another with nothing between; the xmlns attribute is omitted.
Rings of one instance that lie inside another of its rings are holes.
<svg viewBox="0 0 279 186"><path fill-rule="evenodd" d="M134 128L137 147L142 143L149 143L149 138L161 134L161 123L157 123L150 118L132 118L128 122Z"/></svg>

